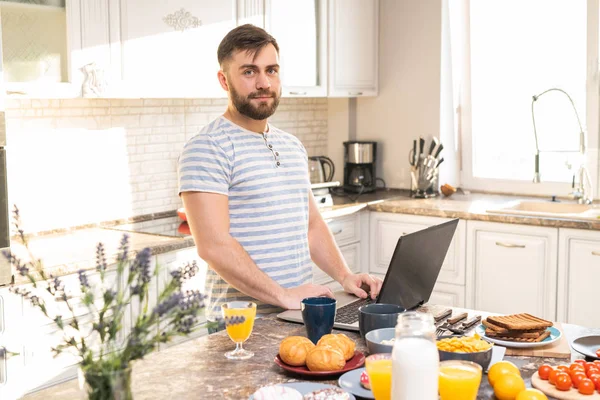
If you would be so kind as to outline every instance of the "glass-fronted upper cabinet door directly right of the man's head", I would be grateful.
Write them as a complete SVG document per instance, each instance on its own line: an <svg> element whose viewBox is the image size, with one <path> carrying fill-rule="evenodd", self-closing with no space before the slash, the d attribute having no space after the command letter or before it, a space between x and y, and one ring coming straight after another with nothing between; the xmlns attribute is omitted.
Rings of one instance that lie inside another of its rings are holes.
<svg viewBox="0 0 600 400"><path fill-rule="evenodd" d="M326 1L266 0L265 24L279 45L282 96L327 96Z"/></svg>

